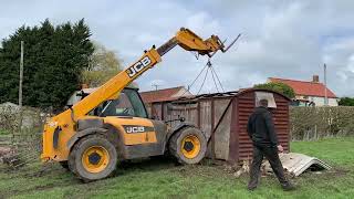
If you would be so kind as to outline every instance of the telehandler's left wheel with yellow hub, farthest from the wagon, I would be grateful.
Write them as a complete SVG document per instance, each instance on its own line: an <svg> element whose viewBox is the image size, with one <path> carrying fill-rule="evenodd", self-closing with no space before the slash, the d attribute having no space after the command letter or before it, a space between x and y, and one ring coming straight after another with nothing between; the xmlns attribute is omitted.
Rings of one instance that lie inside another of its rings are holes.
<svg viewBox="0 0 354 199"><path fill-rule="evenodd" d="M116 148L103 135L81 138L69 155L70 169L85 182L108 177L116 165Z"/></svg>

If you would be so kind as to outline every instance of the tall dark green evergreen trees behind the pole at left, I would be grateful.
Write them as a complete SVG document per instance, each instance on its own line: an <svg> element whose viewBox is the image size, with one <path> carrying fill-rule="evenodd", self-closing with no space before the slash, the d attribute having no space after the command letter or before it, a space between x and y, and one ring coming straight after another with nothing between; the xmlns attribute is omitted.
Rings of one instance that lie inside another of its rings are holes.
<svg viewBox="0 0 354 199"><path fill-rule="evenodd" d="M0 103L18 103L20 42L24 41L23 105L60 109L80 90L94 51L84 20L21 27L0 48Z"/></svg>

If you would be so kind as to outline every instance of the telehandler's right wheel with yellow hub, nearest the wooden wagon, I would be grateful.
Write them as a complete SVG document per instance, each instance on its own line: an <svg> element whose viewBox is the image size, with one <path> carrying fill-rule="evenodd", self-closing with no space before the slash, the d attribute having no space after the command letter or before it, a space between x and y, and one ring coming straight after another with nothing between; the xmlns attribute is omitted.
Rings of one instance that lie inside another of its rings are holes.
<svg viewBox="0 0 354 199"><path fill-rule="evenodd" d="M198 164L206 151L207 139L198 128L183 128L169 139L169 153L183 165Z"/></svg>

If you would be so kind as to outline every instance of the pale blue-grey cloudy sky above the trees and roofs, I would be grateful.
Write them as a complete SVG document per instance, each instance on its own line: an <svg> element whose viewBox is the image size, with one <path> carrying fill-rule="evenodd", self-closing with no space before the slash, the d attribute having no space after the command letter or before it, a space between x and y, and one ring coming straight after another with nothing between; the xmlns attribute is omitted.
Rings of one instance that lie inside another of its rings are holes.
<svg viewBox="0 0 354 199"><path fill-rule="evenodd" d="M352 0L11 0L0 2L0 38L46 18L55 24L85 18L92 39L114 50L127 66L180 27L228 41L242 33L235 48L212 59L225 90L249 87L270 76L310 81L319 74L323 81L326 63L329 87L340 96L353 96L353 10ZM137 83L143 91L153 90L153 84L187 86L206 61L176 48ZM196 93L201 82L191 91ZM216 92L210 73L201 92Z"/></svg>

